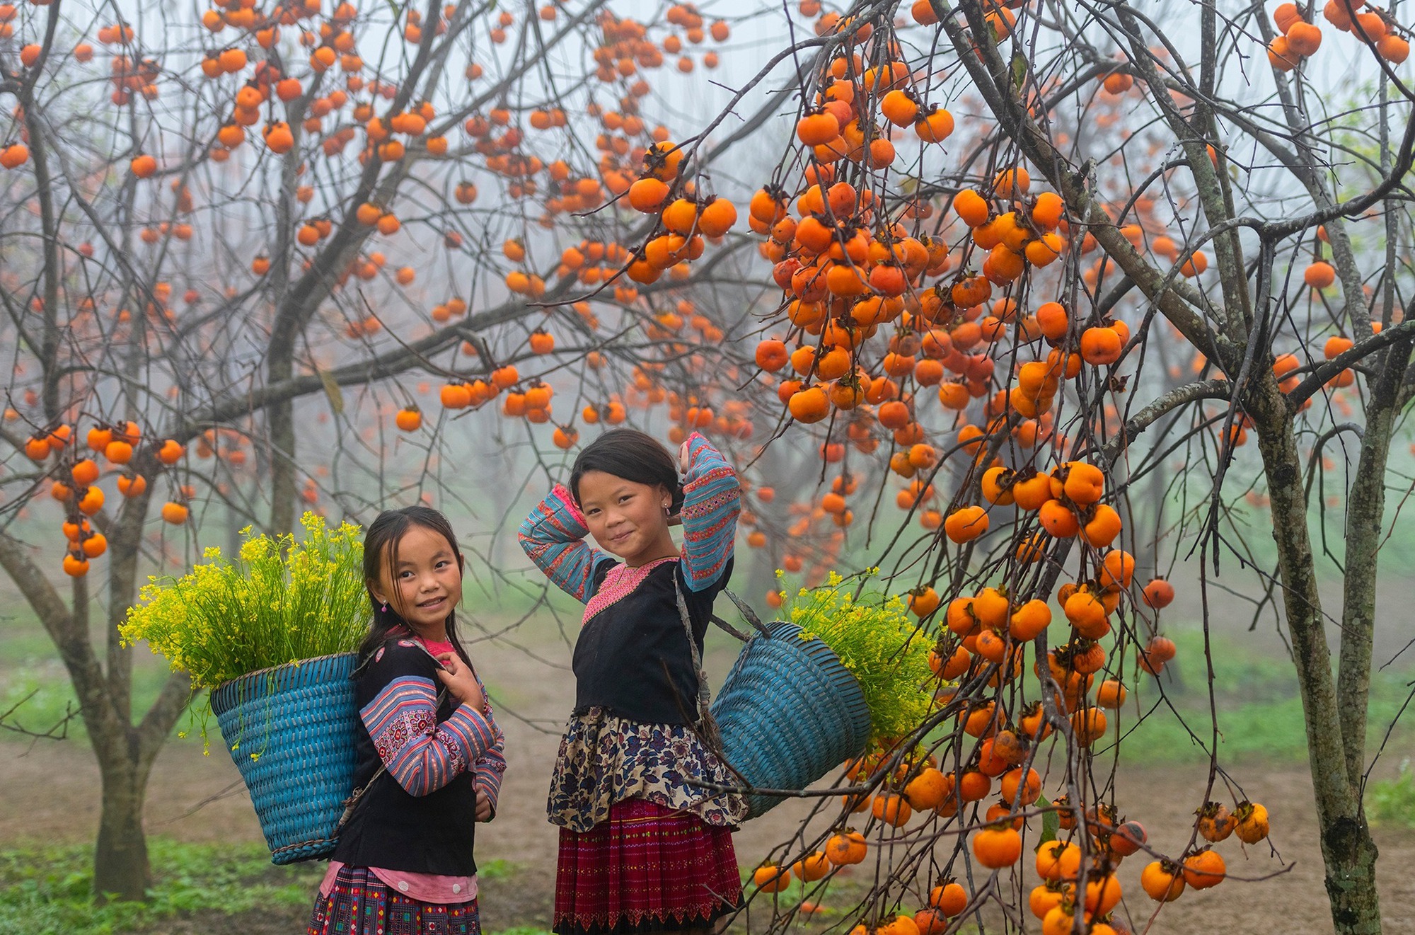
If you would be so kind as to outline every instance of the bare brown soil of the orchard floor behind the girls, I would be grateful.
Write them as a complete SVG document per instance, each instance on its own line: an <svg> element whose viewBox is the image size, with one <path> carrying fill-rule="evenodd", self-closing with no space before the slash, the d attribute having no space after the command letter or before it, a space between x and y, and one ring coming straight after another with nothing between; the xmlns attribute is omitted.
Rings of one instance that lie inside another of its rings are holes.
<svg viewBox="0 0 1415 935"><path fill-rule="evenodd" d="M542 647L543 659L567 657L556 645L559 636L549 629L518 632L516 640ZM709 670L723 673L734 650L727 642L712 646ZM543 928L549 922L556 851L556 830L545 820L546 778L559 741L559 722L572 706L573 680L567 670L538 662L508 645L483 642L473 653L499 703L509 764L497 819L478 830L477 853L481 860L502 858L514 864L512 873L483 883L483 919L492 932L519 925ZM198 738L173 740L167 745L149 788L146 824L150 833L191 842L260 840L243 786L236 785L233 793L188 813L236 782L236 771L218 738L212 725L209 756L202 755ZM99 779L86 747L42 742L25 748L7 742L0 752L0 788L6 790L0 796L0 840L93 839ZM1245 853L1237 839L1225 842L1221 850L1230 873L1251 881L1234 878L1214 890L1186 892L1167 905L1148 931L1156 935L1220 929L1255 935L1330 932L1306 769L1290 764L1240 764L1234 775L1252 799L1266 803L1272 815L1271 840L1281 857L1266 846L1248 847ZM1180 840L1179 829L1191 822L1190 813L1203 798L1206 779L1203 765L1129 769L1118 778L1118 800L1122 812L1150 829L1156 847L1180 850L1187 837ZM753 866L773 847L790 840L805 809L805 803L788 802L749 823L736 836L739 860ZM1415 833L1378 829L1377 842L1385 932L1415 932L1415 877L1405 870L1415 864ZM1129 894L1125 908L1135 931L1146 931L1155 908L1138 885L1142 863L1139 856L1132 857L1121 868ZM866 876L865 867L855 868L852 876ZM863 885L849 877L842 883L839 898L832 894L822 901L832 911L824 912L812 928L853 921L846 914L852 904L849 894L862 891ZM764 922L764 904L754 907L753 929ZM151 931L276 935L301 931L303 921L303 911L239 917L198 914ZM1027 922L1027 931L1037 929L1030 917Z"/></svg>

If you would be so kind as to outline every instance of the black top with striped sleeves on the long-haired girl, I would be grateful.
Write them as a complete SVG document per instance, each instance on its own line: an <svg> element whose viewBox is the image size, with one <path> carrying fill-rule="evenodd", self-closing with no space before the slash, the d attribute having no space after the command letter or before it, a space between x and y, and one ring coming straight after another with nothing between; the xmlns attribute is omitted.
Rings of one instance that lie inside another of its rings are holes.
<svg viewBox="0 0 1415 935"><path fill-rule="evenodd" d="M333 858L354 867L470 877L477 796L495 799L505 771L490 704L447 697L434 660L410 636L375 650L354 690L362 721L354 785L368 786ZM386 776L375 778L379 766Z"/></svg>

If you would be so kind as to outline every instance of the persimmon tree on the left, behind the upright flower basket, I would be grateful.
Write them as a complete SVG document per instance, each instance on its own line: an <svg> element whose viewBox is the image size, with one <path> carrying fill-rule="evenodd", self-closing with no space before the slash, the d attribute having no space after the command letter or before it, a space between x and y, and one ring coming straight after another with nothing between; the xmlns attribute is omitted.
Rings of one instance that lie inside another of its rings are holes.
<svg viewBox="0 0 1415 935"><path fill-rule="evenodd" d="M117 625L143 575L222 527L430 496L461 411L567 449L623 422L648 368L700 366L733 324L682 290L749 245L724 241L736 211L699 187L702 218L634 252L628 204L770 115L705 146L647 113L655 72L686 82L730 35L688 6L188 16L0 4L0 565L78 694L93 885L122 898L143 897L144 789L191 694L174 673L134 708ZM693 418L750 431L730 405Z"/></svg>

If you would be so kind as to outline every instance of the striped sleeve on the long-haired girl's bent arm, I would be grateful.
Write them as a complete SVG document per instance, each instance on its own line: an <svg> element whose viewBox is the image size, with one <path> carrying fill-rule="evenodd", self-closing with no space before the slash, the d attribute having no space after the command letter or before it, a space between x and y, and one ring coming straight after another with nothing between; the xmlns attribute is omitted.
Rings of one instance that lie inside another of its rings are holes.
<svg viewBox="0 0 1415 935"><path fill-rule="evenodd" d="M379 759L409 795L441 789L495 742L480 713L463 704L439 724L436 704L432 679L402 676L359 711Z"/></svg>

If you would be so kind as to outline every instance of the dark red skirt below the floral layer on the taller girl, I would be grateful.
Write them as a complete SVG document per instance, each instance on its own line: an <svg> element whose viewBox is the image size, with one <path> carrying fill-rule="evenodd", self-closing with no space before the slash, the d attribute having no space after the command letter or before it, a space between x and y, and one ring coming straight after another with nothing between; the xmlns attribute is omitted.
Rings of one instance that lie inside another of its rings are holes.
<svg viewBox="0 0 1415 935"><path fill-rule="evenodd" d="M625 799L586 833L560 829L558 935L705 929L741 905L732 832Z"/></svg>

